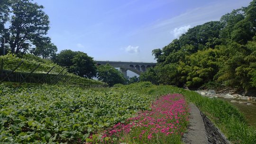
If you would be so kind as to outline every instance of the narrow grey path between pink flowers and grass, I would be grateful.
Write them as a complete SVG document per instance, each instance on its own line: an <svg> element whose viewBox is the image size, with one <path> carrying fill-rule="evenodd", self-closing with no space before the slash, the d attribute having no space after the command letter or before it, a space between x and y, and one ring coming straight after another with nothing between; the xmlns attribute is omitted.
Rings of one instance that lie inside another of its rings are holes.
<svg viewBox="0 0 256 144"><path fill-rule="evenodd" d="M207 134L204 127L204 122L198 108L190 103L190 120L188 132L183 136L185 144L207 144Z"/></svg>

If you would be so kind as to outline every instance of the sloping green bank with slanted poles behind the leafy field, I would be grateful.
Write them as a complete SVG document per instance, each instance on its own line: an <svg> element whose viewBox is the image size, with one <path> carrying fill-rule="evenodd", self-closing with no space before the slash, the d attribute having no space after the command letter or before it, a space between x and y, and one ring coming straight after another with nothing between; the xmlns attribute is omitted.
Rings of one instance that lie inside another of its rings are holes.
<svg viewBox="0 0 256 144"><path fill-rule="evenodd" d="M22 63L21 63L22 62ZM12 75L6 77L19 64L21 64ZM88 79L69 73L66 68L61 67L51 60L41 59L33 55L23 55L19 58L14 54L0 56L0 76L3 81L21 82L23 79L28 83L48 84L75 84L82 86L107 86L98 80ZM29 74L31 71L35 71ZM6 77L6 79L4 79ZM27 79L25 79L27 77Z"/></svg>

